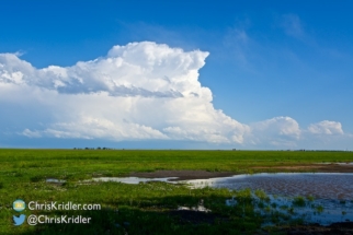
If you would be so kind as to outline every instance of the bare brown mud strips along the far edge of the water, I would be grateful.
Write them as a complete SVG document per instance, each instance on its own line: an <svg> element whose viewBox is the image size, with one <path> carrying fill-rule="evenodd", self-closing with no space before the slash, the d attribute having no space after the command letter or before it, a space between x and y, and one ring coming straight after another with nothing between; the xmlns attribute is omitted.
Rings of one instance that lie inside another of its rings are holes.
<svg viewBox="0 0 353 235"><path fill-rule="evenodd" d="M251 169L255 169L257 173L260 172L273 172L271 169L275 169L276 172L312 172L312 173L353 173L352 164L309 164L309 165L295 165L295 166L255 166L251 167ZM263 171L261 171L263 169ZM128 176L130 177L143 177L143 178L166 178L166 177L178 177L172 180L189 180L189 179L209 179L209 178L218 178L218 177L228 177L238 175L232 172L207 172L207 171L156 171L148 173L130 173Z"/></svg>

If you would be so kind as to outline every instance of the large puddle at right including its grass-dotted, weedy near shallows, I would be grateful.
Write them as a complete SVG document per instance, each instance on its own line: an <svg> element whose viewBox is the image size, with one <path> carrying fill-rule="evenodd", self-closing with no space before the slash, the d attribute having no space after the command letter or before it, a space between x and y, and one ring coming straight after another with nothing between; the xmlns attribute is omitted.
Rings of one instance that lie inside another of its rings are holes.
<svg viewBox="0 0 353 235"><path fill-rule="evenodd" d="M267 199L252 193L255 210L267 224L300 219L306 223L329 225L353 221L353 174L277 173L186 180L192 188L214 187L232 190L263 190ZM225 202L237 205L235 198Z"/></svg>

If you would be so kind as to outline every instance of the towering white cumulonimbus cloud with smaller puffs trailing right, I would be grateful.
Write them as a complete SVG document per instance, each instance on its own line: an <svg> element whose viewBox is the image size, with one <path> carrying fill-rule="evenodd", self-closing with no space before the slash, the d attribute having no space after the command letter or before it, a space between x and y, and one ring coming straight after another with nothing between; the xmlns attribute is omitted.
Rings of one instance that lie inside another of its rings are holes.
<svg viewBox="0 0 353 235"><path fill-rule="evenodd" d="M71 67L36 69L0 54L0 108L9 110L2 122L29 138L295 145L303 131L291 117L244 125L214 108L212 91L198 81L207 56L143 42ZM334 121L306 132L343 134Z"/></svg>

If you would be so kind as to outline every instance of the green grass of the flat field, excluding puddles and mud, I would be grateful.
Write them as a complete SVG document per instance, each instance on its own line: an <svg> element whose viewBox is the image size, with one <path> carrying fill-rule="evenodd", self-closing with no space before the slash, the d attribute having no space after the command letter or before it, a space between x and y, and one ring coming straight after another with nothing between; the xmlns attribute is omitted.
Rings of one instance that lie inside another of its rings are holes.
<svg viewBox="0 0 353 235"><path fill-rule="evenodd" d="M81 184L94 176L123 176L158 169L205 169L235 174L275 172L259 166L293 166L321 162L353 162L352 152L292 151L133 151L133 150L0 150L0 234L255 234L262 219L253 212L249 191L189 189L183 185L148 183ZM307 169L310 171L310 169ZM282 171L283 172L283 171ZM46 178L65 179L64 185ZM236 196L242 207L229 208ZM30 211L92 218L91 224L14 226L12 202L99 203L99 211ZM210 218L185 220L172 213L178 205L195 207L200 200ZM214 218L212 218L214 216ZM213 223L209 223L209 221ZM192 222L190 222L192 221ZM125 222L125 224L124 224ZM272 228L270 228L272 230ZM273 232L275 233L275 232Z"/></svg>

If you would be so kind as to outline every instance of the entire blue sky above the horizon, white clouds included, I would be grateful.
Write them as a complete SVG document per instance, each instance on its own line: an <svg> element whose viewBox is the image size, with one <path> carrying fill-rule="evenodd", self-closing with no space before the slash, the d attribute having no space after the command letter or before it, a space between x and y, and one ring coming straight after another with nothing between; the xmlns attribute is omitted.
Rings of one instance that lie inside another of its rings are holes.
<svg viewBox="0 0 353 235"><path fill-rule="evenodd" d="M0 148L353 150L352 1L7 1Z"/></svg>

